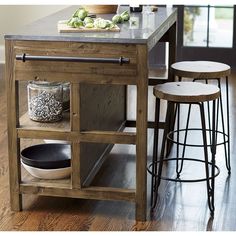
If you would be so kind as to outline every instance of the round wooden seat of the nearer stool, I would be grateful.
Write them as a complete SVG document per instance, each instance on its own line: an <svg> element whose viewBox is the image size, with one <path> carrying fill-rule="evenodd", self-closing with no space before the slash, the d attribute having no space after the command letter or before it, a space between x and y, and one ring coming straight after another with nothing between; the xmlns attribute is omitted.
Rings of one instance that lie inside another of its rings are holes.
<svg viewBox="0 0 236 236"><path fill-rule="evenodd" d="M153 94L167 101L192 103L215 100L220 96L220 89L197 82L169 82L156 85Z"/></svg>

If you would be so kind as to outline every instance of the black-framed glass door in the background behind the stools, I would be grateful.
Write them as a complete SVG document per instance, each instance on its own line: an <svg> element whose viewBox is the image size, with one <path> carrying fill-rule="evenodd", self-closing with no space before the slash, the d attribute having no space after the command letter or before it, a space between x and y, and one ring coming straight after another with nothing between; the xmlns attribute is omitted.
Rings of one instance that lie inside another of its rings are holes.
<svg viewBox="0 0 236 236"><path fill-rule="evenodd" d="M177 7L178 61L212 60L236 67L235 5Z"/></svg>

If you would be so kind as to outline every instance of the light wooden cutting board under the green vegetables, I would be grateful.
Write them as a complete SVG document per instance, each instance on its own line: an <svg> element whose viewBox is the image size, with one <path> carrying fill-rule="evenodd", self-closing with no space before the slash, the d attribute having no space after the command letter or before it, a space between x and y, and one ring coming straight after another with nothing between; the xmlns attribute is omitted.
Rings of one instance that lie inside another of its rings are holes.
<svg viewBox="0 0 236 236"><path fill-rule="evenodd" d="M97 29L97 28L72 28L66 24L66 21L59 21L57 24L59 33L79 33L79 32L119 32L120 28L115 26L112 29Z"/></svg>

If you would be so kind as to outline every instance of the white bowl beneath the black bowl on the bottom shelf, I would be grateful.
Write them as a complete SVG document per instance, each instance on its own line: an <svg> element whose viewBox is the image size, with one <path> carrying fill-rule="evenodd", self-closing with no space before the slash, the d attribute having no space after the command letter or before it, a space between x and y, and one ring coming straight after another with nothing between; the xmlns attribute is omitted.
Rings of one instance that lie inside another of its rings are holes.
<svg viewBox="0 0 236 236"><path fill-rule="evenodd" d="M58 169L40 169L28 166L21 161L22 166L34 177L39 179L64 179L71 174L71 167Z"/></svg>

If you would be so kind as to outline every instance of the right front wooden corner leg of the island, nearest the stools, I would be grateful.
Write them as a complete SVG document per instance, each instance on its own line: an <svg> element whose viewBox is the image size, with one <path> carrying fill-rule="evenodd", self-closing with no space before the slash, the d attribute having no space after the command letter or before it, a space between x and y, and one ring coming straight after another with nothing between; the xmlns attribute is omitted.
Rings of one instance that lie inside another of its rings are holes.
<svg viewBox="0 0 236 236"><path fill-rule="evenodd" d="M146 220L147 209L147 104L148 51L146 45L137 46L137 123L136 123L136 220Z"/></svg>

